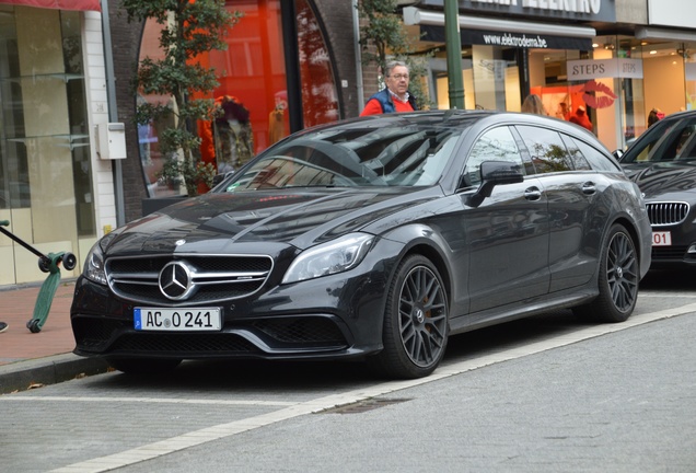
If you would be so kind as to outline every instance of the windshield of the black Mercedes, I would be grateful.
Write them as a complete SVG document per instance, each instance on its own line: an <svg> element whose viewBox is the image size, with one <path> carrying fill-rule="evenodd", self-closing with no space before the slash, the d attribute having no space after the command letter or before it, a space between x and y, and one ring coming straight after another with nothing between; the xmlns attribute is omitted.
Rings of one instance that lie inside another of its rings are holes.
<svg viewBox="0 0 696 473"><path fill-rule="evenodd" d="M429 186L462 129L337 127L302 134L260 154L222 192L289 187Z"/></svg>

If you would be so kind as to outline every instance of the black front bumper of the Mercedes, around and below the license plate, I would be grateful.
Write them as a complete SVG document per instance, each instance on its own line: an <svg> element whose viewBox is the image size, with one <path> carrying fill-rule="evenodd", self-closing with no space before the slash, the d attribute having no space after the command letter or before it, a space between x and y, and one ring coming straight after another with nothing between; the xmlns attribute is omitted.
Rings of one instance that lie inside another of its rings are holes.
<svg viewBox="0 0 696 473"><path fill-rule="evenodd" d="M336 359L382 349L390 265L366 257L357 268L219 305L219 332L152 332L134 327L134 308L107 287L80 277L70 311L81 356L118 358ZM368 268L368 269L366 269ZM185 307L185 303L182 304Z"/></svg>

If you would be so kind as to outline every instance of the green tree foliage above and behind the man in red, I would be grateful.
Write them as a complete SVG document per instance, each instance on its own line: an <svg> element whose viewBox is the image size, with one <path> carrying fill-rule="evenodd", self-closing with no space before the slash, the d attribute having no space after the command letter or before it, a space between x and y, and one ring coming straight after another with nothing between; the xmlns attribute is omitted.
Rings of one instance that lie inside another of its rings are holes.
<svg viewBox="0 0 696 473"><path fill-rule="evenodd" d="M426 56L415 55L415 47L402 16L397 13L397 7L396 0L358 2L358 13L366 22L360 27L362 64L367 66L374 62L384 71L390 60L406 62L410 73L409 90L416 96L418 107L426 108L429 105L424 83L427 73Z"/></svg>

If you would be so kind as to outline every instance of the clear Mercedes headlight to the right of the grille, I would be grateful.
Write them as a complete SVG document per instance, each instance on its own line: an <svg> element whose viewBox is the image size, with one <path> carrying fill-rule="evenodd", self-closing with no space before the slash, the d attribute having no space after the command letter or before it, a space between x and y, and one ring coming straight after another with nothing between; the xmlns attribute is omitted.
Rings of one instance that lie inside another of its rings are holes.
<svg viewBox="0 0 696 473"><path fill-rule="evenodd" d="M362 261L374 240L366 233L350 233L311 247L292 262L281 284L297 282L348 270Z"/></svg>

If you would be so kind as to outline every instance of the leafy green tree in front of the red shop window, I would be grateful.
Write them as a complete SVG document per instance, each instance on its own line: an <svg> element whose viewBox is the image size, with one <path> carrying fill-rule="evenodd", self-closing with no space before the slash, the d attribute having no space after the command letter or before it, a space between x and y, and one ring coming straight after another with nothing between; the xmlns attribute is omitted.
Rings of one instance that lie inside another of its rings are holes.
<svg viewBox="0 0 696 473"><path fill-rule="evenodd" d="M128 21L154 19L162 25L162 59L140 61L135 80L142 94L170 96L172 104L138 105L138 124L170 124L159 136L166 157L160 177L171 183L183 178L189 196L198 194L198 184L210 186L214 166L200 161L200 137L197 122L216 116L211 96L218 86L216 70L205 68L197 59L211 50L225 50L228 30L242 16L229 12L224 0L123 0Z"/></svg>

